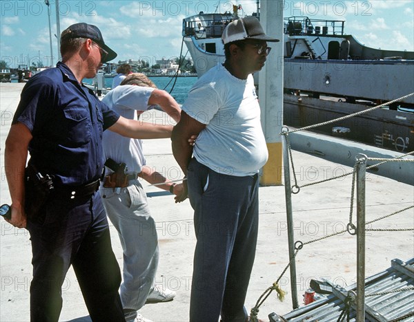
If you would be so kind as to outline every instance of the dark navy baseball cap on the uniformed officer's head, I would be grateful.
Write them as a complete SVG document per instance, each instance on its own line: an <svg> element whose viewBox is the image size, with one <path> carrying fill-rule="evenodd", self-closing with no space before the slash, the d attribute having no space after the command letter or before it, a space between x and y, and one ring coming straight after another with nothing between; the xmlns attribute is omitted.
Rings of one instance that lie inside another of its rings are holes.
<svg viewBox="0 0 414 322"><path fill-rule="evenodd" d="M103 50L108 52L104 61L112 61L117 56L117 53L110 49L103 41L101 30L96 25L88 25L88 23L75 23L70 25L61 33L61 41L72 38L88 38L97 43Z"/></svg>

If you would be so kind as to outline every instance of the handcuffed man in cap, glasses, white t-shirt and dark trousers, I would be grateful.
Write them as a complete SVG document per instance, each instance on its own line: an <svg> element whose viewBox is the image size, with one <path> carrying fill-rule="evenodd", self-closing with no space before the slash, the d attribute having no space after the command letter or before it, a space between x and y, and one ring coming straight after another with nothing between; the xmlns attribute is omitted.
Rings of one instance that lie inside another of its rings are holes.
<svg viewBox="0 0 414 322"><path fill-rule="evenodd" d="M257 243L257 173L268 158L252 73L264 66L266 41L278 40L266 36L255 17L229 23L222 40L224 65L193 86L172 130L172 152L187 175L195 210L190 322L219 316L248 321L244 301ZM199 135L193 148L186 143L189 133Z"/></svg>

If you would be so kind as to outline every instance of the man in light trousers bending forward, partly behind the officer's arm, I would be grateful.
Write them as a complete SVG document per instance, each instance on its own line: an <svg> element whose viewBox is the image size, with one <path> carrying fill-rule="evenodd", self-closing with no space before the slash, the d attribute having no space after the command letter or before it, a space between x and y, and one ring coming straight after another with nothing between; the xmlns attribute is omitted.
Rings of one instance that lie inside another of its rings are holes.
<svg viewBox="0 0 414 322"><path fill-rule="evenodd" d="M181 109L167 92L157 89L144 74L130 74L121 85L102 99L110 109L121 116L134 119L143 111L159 105L168 116L178 121ZM108 132L108 131L106 131ZM145 303L171 301L175 292L155 285L159 250L155 221L150 215L146 193L137 177L175 195L181 194L182 184L175 184L161 173L146 167L141 140L103 133L102 145L106 162L106 178L99 189L106 213L117 228L124 250L124 279L121 284L121 301L126 321L144 322L137 313ZM108 161L110 160L110 161ZM117 184L121 168L126 176ZM124 170L125 169L125 170ZM179 198L175 198L180 202Z"/></svg>

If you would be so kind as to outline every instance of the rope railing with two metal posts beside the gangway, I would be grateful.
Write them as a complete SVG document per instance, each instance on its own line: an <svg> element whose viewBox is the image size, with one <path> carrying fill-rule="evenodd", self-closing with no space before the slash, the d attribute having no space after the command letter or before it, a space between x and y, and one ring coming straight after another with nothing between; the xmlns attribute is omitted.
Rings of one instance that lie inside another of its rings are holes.
<svg viewBox="0 0 414 322"><path fill-rule="evenodd" d="M377 105L376 107L372 107L371 109L366 109L364 111L357 112L355 114L351 114L348 116L344 116L342 118L336 118L335 120L328 120L327 122L319 123L316 125L309 125L308 127L303 127L300 129L288 129L287 127L282 128L281 136L283 141L283 164L284 164L284 186L285 186L285 202L286 202L286 224L287 224L287 233L288 233L288 251L289 251L289 262L282 271L281 275L278 277L278 279L267 288L264 293L259 297L257 300L257 303L254 308L250 310L250 321L257 322L257 313L259 312L260 306L268 299L269 295L273 290L277 292L277 297L279 300L283 300L286 292L282 290L281 286L279 285L279 281L284 276L285 272L290 270L290 291L291 291L291 298L292 298L292 304L293 309L299 308L299 303L297 299L297 275L296 275L296 257L302 248L308 244L312 244L316 241L322 241L324 239L328 239L334 236L343 235L344 233L349 233L350 235L356 235L357 237L357 283L356 283L356 292L353 292L355 294L355 297L353 299L353 306L355 306L355 314L356 314L356 321L365 321L365 314L368 314L369 321L377 321L375 319L375 316L371 316L373 310L368 307L365 303L365 259L366 259L366 247L365 247L365 240L366 240L366 231L377 231L377 232L383 232L383 231L391 231L391 232L402 232L402 231L414 231L414 227L408 227L408 228L370 228L370 224L373 222L379 222L382 219L386 219L388 217L391 217L393 215L397 215L399 213L404 213L408 210L411 210L414 208L414 200L411 202L408 200L409 205L404 206L403 208L400 208L399 210L384 215L382 217L377 217L376 219L373 219L369 222L366 221L366 170L368 169L377 169L377 167L380 167L382 164L388 163L388 162L410 162L414 163L414 158L411 157L411 155L414 155L414 151L411 151L409 153L399 155L395 158L370 158L367 155L359 154L357 155L355 165L353 167L353 171L348 173L342 173L341 175L336 175L331 178L326 178L324 180L311 182L308 184L303 184L302 186L299 186L296 171L295 171L295 165L293 162L293 154L292 149L290 147L290 140L289 135L291 133L295 133L298 131L305 131L308 129L312 129L315 127L320 127L322 125L331 124L333 122L337 122L339 120L344 120L346 118L352 118L355 116L358 116L360 114L368 113L369 111L373 111L374 109L379 109L381 107L384 107L384 105L397 103L400 100L403 100L404 98L407 98L408 96L414 96L414 93L408 94L406 96L403 96L401 98L397 98L396 100L393 100L388 103L384 103L382 105ZM410 158L411 157L411 158ZM369 167L367 167L367 162L379 162L377 164L373 164ZM291 170L290 170L291 169ZM290 179L290 173L293 173L293 180ZM304 189L307 186L313 186L315 184L322 184L325 182L330 182L332 180L338 180L344 177L347 177L348 175L352 175L352 184L351 184L351 205L350 205L350 214L349 214L349 220L348 224L346 225L346 229L341 231L335 231L335 233L324 235L323 237L317 237L315 239L311 239L309 241L295 241L295 224L293 220L293 202L292 202L292 196L295 194L298 194L301 189ZM294 182L292 185L291 182ZM356 189L355 189L356 186ZM356 191L356 224L353 223L353 209L354 209L354 200L355 200L355 191ZM398 291L398 290L395 290ZM381 293L382 294L382 293ZM370 294L372 295L372 294ZM346 305L345 305L346 307ZM367 310L368 309L368 310ZM345 309L344 309L345 310ZM349 314L349 312L342 312L342 314ZM341 314L341 316L342 316ZM339 317L341 317L339 316ZM339 319L340 320L340 319ZM339 321L338 320L338 321ZM279 320L277 320L279 321ZM341 320L342 321L342 320ZM393 321L402 321L402 320L393 320Z"/></svg>

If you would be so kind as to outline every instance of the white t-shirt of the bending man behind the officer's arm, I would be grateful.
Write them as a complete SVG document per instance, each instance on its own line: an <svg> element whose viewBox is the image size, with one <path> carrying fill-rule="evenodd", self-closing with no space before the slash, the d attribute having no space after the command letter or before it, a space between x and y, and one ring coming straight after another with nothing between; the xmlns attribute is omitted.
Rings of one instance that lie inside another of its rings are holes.
<svg viewBox="0 0 414 322"><path fill-rule="evenodd" d="M136 120L136 111L146 111L155 107L148 105L152 91L152 87L122 85L108 92L102 98L102 102L124 118ZM141 140L126 138L112 131L103 131L102 146L105 160L111 158L117 163L125 162L128 172L139 173L146 164ZM106 171L112 172L110 169Z"/></svg>

